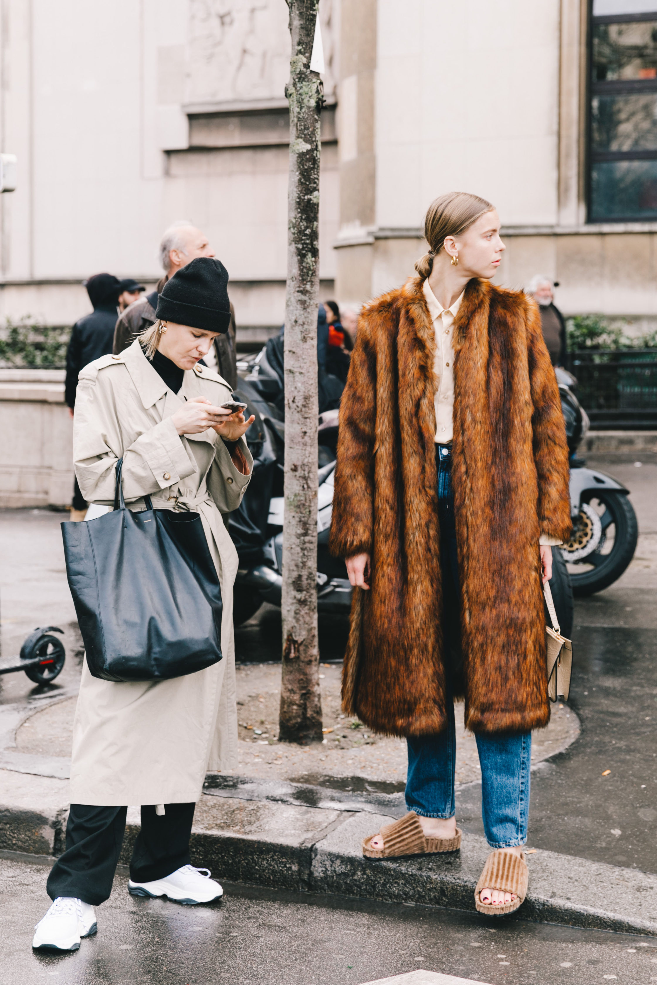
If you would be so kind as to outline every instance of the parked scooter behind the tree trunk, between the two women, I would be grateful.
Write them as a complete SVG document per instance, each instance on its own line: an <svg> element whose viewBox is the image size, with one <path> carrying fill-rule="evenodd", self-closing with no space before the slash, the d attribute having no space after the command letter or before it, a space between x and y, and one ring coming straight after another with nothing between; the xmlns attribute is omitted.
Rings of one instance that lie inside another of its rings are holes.
<svg viewBox="0 0 657 985"><path fill-rule="evenodd" d="M281 399L283 379L273 368L273 361L265 349L238 363L241 379L237 399L248 404L244 413L255 415L256 420L246 432L254 460L253 477L241 505L231 514L229 526L239 556L233 591L235 625L250 619L262 602L281 605L285 422ZM328 552L337 442L338 411L325 410L319 415L317 448L317 611L320 615L348 615L352 605L352 586L345 562L332 558ZM553 551L550 585L561 631L569 636L572 590L565 560L558 551Z"/></svg>

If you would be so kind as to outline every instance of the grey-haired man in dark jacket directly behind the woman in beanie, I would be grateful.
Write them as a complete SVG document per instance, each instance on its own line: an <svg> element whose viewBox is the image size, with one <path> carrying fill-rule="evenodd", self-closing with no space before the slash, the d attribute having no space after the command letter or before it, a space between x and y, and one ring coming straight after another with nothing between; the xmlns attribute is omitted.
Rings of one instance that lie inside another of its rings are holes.
<svg viewBox="0 0 657 985"><path fill-rule="evenodd" d="M155 311L158 295L176 271L186 267L198 256L213 257L215 251L204 232L192 226L187 220L178 220L164 232L159 249L160 263L164 277L158 282L155 291L140 297L123 311L116 322L112 352L115 356L132 345L134 340L155 324ZM219 373L234 389L237 385L237 364L235 355L235 312L230 303L230 327L225 335L220 335L203 360L213 372Z"/></svg>

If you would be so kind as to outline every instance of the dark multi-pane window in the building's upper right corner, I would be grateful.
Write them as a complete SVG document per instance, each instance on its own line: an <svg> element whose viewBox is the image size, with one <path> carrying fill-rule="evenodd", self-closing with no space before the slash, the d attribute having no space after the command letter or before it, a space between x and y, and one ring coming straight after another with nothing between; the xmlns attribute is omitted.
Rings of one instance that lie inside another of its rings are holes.
<svg viewBox="0 0 657 985"><path fill-rule="evenodd" d="M657 0L593 0L589 222L657 220Z"/></svg>

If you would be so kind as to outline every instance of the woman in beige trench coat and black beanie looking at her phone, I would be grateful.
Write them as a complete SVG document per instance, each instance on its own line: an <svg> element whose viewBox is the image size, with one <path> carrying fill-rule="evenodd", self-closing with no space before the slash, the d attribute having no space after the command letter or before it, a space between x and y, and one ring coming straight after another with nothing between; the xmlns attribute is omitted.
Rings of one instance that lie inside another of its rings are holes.
<svg viewBox="0 0 657 985"><path fill-rule="evenodd" d="M232 583L237 554L223 514L249 482L243 433L253 419L230 414L230 386L200 363L230 324L228 273L201 257L164 286L158 321L119 356L80 373L74 420L75 471L89 502L114 501L115 466L131 509L200 514L221 584L224 659L158 682L116 683L83 664L73 727L66 851L47 891L54 900L33 947L73 951L96 932L94 906L108 896L128 805L142 805L129 891L208 902L222 887L190 865L194 807L208 769L237 762ZM146 614L145 614L146 615Z"/></svg>

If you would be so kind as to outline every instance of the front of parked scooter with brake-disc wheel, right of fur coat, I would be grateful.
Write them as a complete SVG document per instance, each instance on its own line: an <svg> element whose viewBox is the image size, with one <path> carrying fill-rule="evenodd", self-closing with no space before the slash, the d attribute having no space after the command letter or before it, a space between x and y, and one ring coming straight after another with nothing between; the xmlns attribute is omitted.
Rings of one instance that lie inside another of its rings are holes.
<svg viewBox="0 0 657 985"><path fill-rule="evenodd" d="M577 448L589 428L574 394L577 381L557 369L561 410L570 453L572 534L562 547L575 595L592 595L621 577L634 556L638 527L628 490L604 472L585 467ZM556 552L553 552L556 554Z"/></svg>

